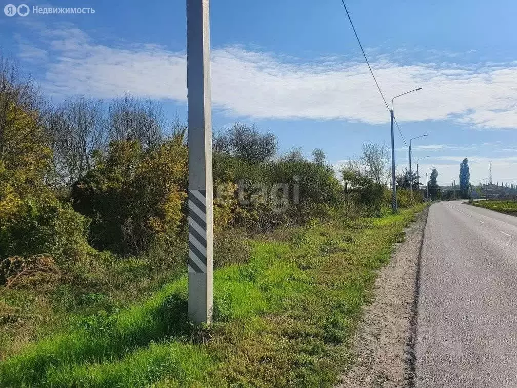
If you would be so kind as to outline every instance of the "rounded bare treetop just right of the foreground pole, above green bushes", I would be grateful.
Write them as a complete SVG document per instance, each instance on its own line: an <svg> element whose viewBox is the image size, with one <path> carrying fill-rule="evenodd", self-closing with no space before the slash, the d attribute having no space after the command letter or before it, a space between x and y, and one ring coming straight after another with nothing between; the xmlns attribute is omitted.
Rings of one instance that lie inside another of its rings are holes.
<svg viewBox="0 0 517 388"><path fill-rule="evenodd" d="M250 163L262 163L275 157L278 139L271 132L260 133L254 125L237 122L215 137L214 148Z"/></svg>

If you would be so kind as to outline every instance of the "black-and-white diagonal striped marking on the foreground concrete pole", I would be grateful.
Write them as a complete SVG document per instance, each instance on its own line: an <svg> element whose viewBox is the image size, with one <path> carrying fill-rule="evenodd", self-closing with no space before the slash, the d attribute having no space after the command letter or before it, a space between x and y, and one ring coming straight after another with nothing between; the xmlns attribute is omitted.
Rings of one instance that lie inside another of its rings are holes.
<svg viewBox="0 0 517 388"><path fill-rule="evenodd" d="M189 272L206 273L206 191L189 190Z"/></svg>

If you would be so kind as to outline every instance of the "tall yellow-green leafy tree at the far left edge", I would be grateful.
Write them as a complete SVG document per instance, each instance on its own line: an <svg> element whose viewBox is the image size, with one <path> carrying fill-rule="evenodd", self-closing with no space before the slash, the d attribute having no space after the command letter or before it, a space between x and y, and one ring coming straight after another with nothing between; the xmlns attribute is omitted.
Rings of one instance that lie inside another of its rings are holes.
<svg viewBox="0 0 517 388"><path fill-rule="evenodd" d="M78 275L76 263L86 268L96 254L86 242L89 220L47 186L52 160L47 105L36 88L20 83L14 68L5 66L0 62L0 261L21 263L43 255Z"/></svg>

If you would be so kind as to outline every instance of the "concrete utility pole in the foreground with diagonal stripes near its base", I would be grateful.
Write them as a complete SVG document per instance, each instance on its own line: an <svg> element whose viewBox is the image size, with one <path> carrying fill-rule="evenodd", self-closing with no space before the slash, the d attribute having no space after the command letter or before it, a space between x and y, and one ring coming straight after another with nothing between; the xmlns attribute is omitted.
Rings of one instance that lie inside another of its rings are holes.
<svg viewBox="0 0 517 388"><path fill-rule="evenodd" d="M214 195L209 0L187 0L189 147L189 317L210 323L214 309Z"/></svg>

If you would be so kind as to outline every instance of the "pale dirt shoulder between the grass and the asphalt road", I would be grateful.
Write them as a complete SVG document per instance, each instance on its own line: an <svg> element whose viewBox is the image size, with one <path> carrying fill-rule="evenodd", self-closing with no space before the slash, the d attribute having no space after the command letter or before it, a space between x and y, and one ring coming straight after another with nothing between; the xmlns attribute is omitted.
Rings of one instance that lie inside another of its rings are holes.
<svg viewBox="0 0 517 388"><path fill-rule="evenodd" d="M339 388L413 385L419 256L428 211L419 213L405 229L405 241L397 244L390 263L379 271Z"/></svg>

